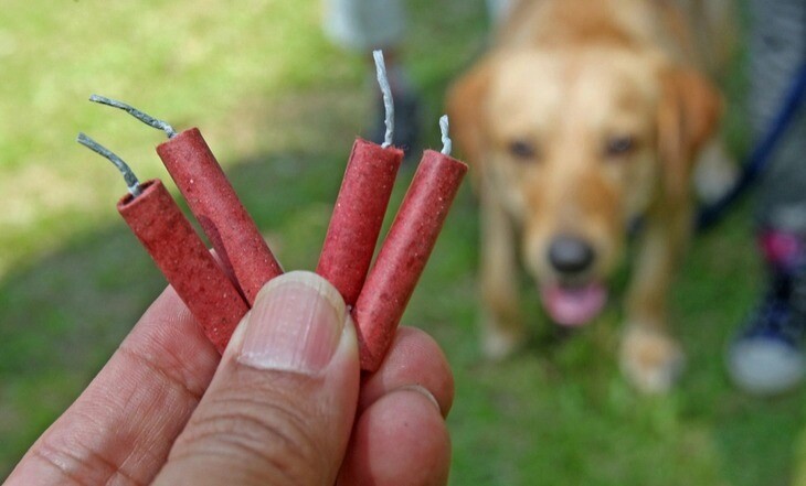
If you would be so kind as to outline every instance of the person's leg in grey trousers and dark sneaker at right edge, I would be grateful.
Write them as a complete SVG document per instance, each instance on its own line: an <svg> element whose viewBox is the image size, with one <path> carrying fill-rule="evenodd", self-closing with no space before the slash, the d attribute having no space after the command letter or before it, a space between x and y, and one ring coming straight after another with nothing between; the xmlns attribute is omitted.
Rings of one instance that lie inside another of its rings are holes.
<svg viewBox="0 0 806 486"><path fill-rule="evenodd" d="M768 130L806 58L806 3L753 0L750 115L755 138ZM729 350L729 371L749 392L797 386L806 360L806 114L802 108L762 176L760 246L770 282L765 296Z"/></svg>

